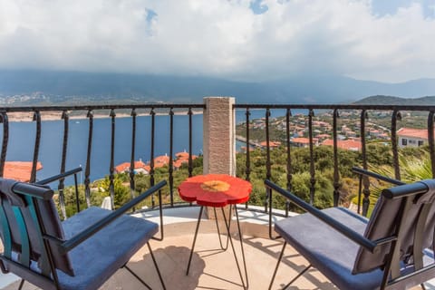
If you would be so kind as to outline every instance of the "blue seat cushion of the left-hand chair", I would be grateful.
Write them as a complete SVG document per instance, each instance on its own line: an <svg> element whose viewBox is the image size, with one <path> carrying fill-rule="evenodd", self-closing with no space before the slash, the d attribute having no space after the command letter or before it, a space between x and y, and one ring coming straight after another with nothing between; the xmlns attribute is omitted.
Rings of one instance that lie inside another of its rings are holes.
<svg viewBox="0 0 435 290"><path fill-rule="evenodd" d="M110 210L92 207L66 219L65 237L73 237L109 214ZM127 215L117 218L70 251L75 276L58 271L61 288L97 289L158 231L156 223L143 218Z"/></svg>

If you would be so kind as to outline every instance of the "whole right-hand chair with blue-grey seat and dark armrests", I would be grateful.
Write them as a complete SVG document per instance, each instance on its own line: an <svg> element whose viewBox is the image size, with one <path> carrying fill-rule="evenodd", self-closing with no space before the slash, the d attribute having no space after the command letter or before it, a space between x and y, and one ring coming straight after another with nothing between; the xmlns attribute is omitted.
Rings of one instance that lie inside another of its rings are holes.
<svg viewBox="0 0 435 290"><path fill-rule="evenodd" d="M266 188L306 213L275 223L290 244L339 289L407 289L435 277L433 237L435 179L383 189L370 219L346 208L319 210L266 180Z"/></svg>

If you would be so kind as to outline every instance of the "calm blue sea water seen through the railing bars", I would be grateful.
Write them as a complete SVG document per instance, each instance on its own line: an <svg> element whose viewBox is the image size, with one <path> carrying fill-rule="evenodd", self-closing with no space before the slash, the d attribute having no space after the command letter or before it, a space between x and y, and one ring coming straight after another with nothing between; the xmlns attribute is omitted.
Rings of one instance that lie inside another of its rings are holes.
<svg viewBox="0 0 435 290"><path fill-rule="evenodd" d="M264 118L265 110L250 110L250 119ZM297 112L306 114L306 111ZM271 117L284 116L285 110L272 110ZM154 156L169 154L169 116L155 117ZM237 110L237 123L246 121L246 111ZM150 161L150 116L137 117L135 160ZM202 114L192 116L192 154L202 154ZM35 122L17 121L9 123L9 140L6 160L32 161L34 156ZM116 118L114 165L131 160L131 118ZM86 166L89 121L87 119L71 119L69 122L66 170L82 167L78 176L83 183ZM3 141L3 128L0 125L0 140ZM174 154L189 151L189 118L187 115L174 116ZM237 141L237 150L245 143ZM37 179L46 179L60 172L63 150L63 121L42 121L41 144L38 160L43 169L38 170ZM95 118L93 120L92 158L90 179L102 179L110 174L111 162L111 119ZM73 184L73 178L65 180L67 185Z"/></svg>

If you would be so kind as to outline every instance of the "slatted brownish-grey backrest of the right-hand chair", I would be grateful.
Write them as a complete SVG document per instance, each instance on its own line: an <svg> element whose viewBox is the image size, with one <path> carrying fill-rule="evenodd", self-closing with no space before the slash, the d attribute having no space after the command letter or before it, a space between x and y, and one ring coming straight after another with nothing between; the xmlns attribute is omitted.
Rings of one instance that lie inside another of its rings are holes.
<svg viewBox="0 0 435 290"><path fill-rule="evenodd" d="M414 251L422 253L423 249L432 247L433 244L434 199L435 179L383 190L372 211L364 237L371 240L398 237L396 245L400 250L399 261L405 265L414 263L414 254L417 254ZM419 249L414 248L416 243L419 243ZM383 245L375 253L360 247L353 265L353 274L385 266L390 252L391 243Z"/></svg>

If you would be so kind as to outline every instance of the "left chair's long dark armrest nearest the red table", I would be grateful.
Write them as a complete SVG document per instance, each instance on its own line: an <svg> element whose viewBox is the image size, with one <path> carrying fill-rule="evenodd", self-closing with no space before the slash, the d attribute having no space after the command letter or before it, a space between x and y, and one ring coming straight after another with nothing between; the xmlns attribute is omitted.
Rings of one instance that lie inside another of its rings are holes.
<svg viewBox="0 0 435 290"><path fill-rule="evenodd" d="M81 233L75 235L74 237L68 239L67 241L63 242L60 246L62 247L62 251L64 253L72 250L74 247L79 246L84 240L86 240L89 237L92 237L95 233L97 233L99 230L101 230L103 227L106 227L109 225L112 221L114 221L116 218L120 218L122 214L127 212L130 208L134 207L140 201L142 201L145 198L150 197L151 194L154 192L160 190L166 185L166 180L160 181L157 185L153 186L152 188L148 189L144 193L140 194L139 197L131 199L128 203L123 205L121 208L116 209L113 211L109 216L102 218L95 224L93 224L90 227L85 228L82 230Z"/></svg>

